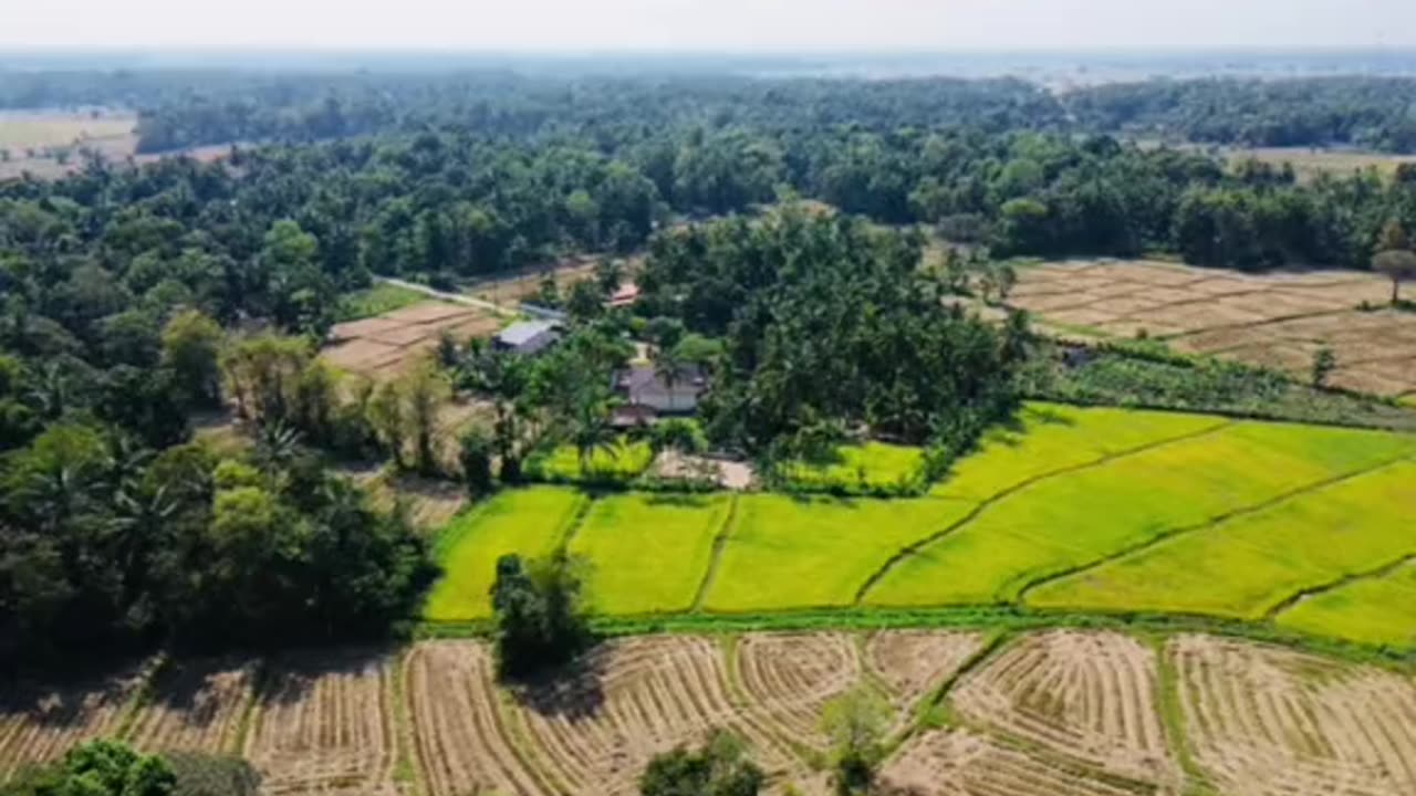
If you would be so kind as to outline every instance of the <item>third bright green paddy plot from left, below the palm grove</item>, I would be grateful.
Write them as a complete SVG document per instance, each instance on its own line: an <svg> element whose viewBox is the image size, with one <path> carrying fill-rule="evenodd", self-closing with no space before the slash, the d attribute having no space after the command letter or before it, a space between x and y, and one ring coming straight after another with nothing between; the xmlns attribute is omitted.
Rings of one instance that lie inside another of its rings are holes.
<svg viewBox="0 0 1416 796"><path fill-rule="evenodd" d="M899 550L957 521L960 500L847 500L749 494L704 598L704 610L850 605Z"/></svg>

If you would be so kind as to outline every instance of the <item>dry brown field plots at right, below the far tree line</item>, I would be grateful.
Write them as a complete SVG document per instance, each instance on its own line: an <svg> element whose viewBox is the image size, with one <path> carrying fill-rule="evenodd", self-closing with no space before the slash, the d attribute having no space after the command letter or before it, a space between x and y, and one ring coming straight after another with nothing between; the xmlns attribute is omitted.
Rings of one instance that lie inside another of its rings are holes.
<svg viewBox="0 0 1416 796"><path fill-rule="evenodd" d="M1386 306L1391 283L1351 271L1252 275L1150 261L1056 262L1021 269L1008 302L1059 331L1133 337L1181 351L1307 375L1337 356L1338 387L1416 392L1416 314Z"/></svg>

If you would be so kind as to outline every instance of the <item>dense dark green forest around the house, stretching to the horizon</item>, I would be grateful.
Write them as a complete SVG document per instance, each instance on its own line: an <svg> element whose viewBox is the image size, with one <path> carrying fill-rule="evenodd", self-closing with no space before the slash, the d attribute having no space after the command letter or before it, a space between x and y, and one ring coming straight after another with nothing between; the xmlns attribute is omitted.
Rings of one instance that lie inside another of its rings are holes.
<svg viewBox="0 0 1416 796"><path fill-rule="evenodd" d="M1297 108L1215 85L1279 126ZM960 449L1015 405L1027 324L942 312L925 234L980 258L1164 251L1259 269L1368 268L1383 229L1416 229L1413 170L1300 184L1069 129L1079 108L1097 129L1201 125L1198 88L1082 105L1021 81L74 72L0 86L0 106L142 108L144 149L276 142L0 184L6 664L396 632L433 575L426 544L330 457L436 469L428 406L449 385L497 405L469 463L520 460L532 431L593 448L632 330L708 343L704 431L719 448L784 456L868 426ZM1344 120L1321 136L1399 149L1396 116L1357 108L1391 96L1315 95ZM843 214L762 214L792 197ZM694 220L712 221L681 228ZM375 392L313 357L338 297L371 275L443 283L568 252L647 265L632 313L566 297L576 329L545 365L561 370L518 375L455 347L446 373ZM224 405L251 422L251 450L193 435Z"/></svg>

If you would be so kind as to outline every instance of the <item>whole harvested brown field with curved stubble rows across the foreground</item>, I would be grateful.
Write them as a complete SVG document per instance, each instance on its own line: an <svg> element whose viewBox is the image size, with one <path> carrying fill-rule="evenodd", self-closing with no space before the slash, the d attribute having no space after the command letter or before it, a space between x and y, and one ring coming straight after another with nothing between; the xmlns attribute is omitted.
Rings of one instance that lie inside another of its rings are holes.
<svg viewBox="0 0 1416 796"><path fill-rule="evenodd" d="M824 796L823 708L857 687L895 711L884 793L1416 792L1409 674L1211 636L1082 630L993 644L943 630L641 636L514 688L473 640L402 656L177 661L7 698L0 779L116 735L152 751L239 752L275 795L629 795L656 754L726 729L772 792Z"/></svg>

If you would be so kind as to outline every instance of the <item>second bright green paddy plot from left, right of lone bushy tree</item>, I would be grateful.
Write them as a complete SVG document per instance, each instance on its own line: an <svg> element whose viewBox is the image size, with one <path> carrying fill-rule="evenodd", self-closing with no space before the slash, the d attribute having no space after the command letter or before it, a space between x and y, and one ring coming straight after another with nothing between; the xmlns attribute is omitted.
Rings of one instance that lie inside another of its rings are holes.
<svg viewBox="0 0 1416 796"><path fill-rule="evenodd" d="M726 494L613 494L596 500L571 542L590 561L596 613L688 610L728 518Z"/></svg>

